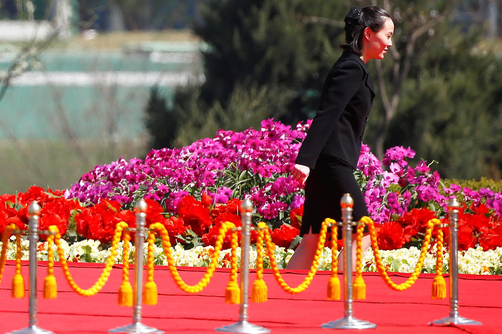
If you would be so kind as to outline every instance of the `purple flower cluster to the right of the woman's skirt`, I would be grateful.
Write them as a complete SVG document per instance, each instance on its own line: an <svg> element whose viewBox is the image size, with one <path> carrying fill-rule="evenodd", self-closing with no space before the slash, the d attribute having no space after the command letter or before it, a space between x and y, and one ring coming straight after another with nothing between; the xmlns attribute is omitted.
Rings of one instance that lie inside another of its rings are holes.
<svg viewBox="0 0 502 334"><path fill-rule="evenodd" d="M431 170L432 163L421 160L415 168L408 163L415 151L410 147L392 147L387 150L382 163L362 145L357 164L356 179L363 191L368 213L373 221L384 223L395 220L413 208L427 207L443 217L450 198L460 199L466 206L484 203L492 214L501 216L502 195L488 188L473 191L452 184L441 186L437 171ZM387 167L388 171L385 170Z"/></svg>

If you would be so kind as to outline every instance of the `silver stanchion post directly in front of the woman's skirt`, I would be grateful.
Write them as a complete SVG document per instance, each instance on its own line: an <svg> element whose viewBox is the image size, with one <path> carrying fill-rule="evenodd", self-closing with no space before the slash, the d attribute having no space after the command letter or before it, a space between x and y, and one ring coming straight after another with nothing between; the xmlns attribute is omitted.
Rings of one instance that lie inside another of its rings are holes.
<svg viewBox="0 0 502 334"><path fill-rule="evenodd" d="M359 320L352 315L352 208L354 201L350 194L344 194L340 206L342 208L342 221L343 221L343 294L344 294L344 317L338 320L330 321L321 325L322 328L334 329L366 329L375 328L376 324L366 320ZM332 240L336 242L336 240Z"/></svg>

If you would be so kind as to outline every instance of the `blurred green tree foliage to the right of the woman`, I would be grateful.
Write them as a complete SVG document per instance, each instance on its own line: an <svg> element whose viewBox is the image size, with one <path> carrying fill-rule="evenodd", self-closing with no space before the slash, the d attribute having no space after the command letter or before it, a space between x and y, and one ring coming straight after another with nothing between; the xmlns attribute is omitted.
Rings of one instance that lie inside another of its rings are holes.
<svg viewBox="0 0 502 334"><path fill-rule="evenodd" d="M407 51L413 33L408 31L410 15L417 16L418 7L423 13L431 13L432 9L441 12L445 3L421 1L408 7L407 16L395 20L393 48L402 55ZM408 6L408 2L393 2L395 8L399 4L403 4L402 8ZM433 7L426 10L430 5ZM441 177L499 179L502 80L497 74L502 70L502 61L489 49L478 47L484 36L479 27L461 30L452 23L453 19L453 15L448 16L419 38L409 76L400 85L399 105L385 147L411 146L417 158L439 161ZM399 60L381 62L390 83L396 61ZM374 73L374 68L370 70ZM381 115L382 101L377 98L375 102L373 111ZM376 128L371 119L378 120L379 116L370 117L370 135Z"/></svg>

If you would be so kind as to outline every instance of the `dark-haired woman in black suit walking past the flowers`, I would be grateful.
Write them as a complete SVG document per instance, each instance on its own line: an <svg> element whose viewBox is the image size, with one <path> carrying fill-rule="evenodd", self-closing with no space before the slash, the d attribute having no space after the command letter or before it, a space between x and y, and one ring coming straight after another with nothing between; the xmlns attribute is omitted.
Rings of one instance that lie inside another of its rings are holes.
<svg viewBox="0 0 502 334"><path fill-rule="evenodd" d="M328 217L341 221L340 199L344 193L354 200L354 221L368 215L353 176L375 96L366 63L384 58L392 46L394 23L389 13L376 6L353 7L344 21L346 44L340 46L343 53L324 82L319 109L292 172L296 181L305 184L305 204L300 229L303 239L288 269L310 268L321 223ZM363 252L369 245L365 233ZM355 246L352 249L355 254Z"/></svg>

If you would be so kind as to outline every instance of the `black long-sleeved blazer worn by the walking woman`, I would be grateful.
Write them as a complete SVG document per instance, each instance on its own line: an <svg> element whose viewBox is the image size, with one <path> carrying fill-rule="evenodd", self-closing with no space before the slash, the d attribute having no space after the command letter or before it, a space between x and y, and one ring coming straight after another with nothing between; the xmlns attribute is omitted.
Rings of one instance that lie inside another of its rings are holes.
<svg viewBox="0 0 502 334"><path fill-rule="evenodd" d="M324 82L321 103L296 163L315 167L320 154L357 166L362 135L375 96L366 64L344 51Z"/></svg>

